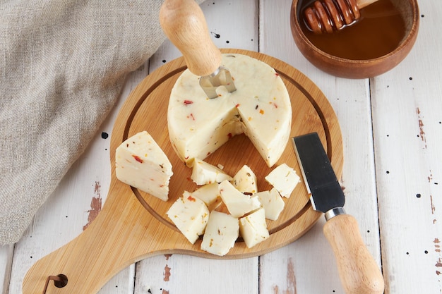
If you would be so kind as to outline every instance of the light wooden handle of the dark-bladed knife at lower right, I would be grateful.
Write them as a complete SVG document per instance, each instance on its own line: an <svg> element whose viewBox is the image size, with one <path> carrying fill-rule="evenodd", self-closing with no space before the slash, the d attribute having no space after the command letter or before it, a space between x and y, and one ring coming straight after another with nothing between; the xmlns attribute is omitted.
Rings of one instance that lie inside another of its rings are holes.
<svg viewBox="0 0 442 294"><path fill-rule="evenodd" d="M348 214L334 216L323 232L335 253L345 293L383 293L383 276L362 240L356 219Z"/></svg>

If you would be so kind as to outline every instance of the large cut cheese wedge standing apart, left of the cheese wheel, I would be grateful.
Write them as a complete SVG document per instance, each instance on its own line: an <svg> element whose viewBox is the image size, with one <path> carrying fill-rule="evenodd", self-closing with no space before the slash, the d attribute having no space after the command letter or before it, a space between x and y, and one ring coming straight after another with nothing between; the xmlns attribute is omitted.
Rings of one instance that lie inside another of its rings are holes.
<svg viewBox="0 0 442 294"><path fill-rule="evenodd" d="M163 201L169 198L172 164L146 131L129 137L117 147L115 173L123 183Z"/></svg>

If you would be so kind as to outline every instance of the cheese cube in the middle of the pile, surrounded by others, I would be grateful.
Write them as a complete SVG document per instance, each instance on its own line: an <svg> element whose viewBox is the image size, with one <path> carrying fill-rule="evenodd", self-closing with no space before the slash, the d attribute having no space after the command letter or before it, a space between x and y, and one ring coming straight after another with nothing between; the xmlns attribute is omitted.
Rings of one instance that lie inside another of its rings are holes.
<svg viewBox="0 0 442 294"><path fill-rule="evenodd" d="M228 180L222 181L218 188L222 202L224 202L230 214L234 217L244 216L244 214L261 207L258 197L251 197L239 192Z"/></svg>

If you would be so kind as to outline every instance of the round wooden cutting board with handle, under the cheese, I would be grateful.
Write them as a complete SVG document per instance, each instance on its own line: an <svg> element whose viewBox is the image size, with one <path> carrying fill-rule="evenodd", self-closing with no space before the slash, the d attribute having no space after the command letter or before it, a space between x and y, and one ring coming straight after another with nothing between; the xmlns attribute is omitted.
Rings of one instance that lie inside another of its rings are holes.
<svg viewBox="0 0 442 294"><path fill-rule="evenodd" d="M239 49L225 49L223 53L246 54L275 68L284 80L292 102L292 136L316 131L337 173L342 173L342 136L335 112L321 90L292 66L265 54ZM68 283L57 288L49 283L46 293L97 293L112 276L133 262L160 254L195 255L213 259L236 259L263 255L292 243L318 220L313 211L304 183L299 183L292 196L285 199L285 209L277 221L268 221L270 238L247 248L238 240L228 255L218 257L200 250L201 240L194 245L179 233L167 218L167 209L184 190L193 191L196 185L189 180L191 169L177 157L167 132L167 104L174 82L186 69L181 57L148 75L127 98L114 125L111 138L112 179L109 195L95 221L77 238L38 260L23 281L23 294L43 293L48 276L63 274ZM147 130L165 151L173 166L169 201L163 202L131 188L115 176L115 149L126 138ZM266 176L272 169L244 135L237 135L205 161L222 164L234 175L247 164L256 173L258 190L268 190ZM291 142L287 144L278 164L286 163L301 175ZM275 167L274 166L274 167Z"/></svg>

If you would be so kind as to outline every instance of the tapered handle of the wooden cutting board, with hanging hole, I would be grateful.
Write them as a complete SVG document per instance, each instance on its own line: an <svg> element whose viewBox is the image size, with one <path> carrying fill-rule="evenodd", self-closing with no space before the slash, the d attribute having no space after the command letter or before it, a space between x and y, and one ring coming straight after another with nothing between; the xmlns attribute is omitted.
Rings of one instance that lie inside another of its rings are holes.
<svg viewBox="0 0 442 294"><path fill-rule="evenodd" d="M23 294L94 294L130 264L180 247L181 233L162 226L130 189L114 185L102 211L83 233L29 269ZM48 280L61 275L67 280L61 287Z"/></svg>

